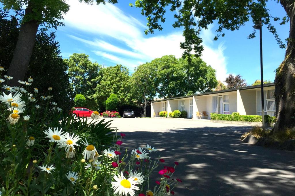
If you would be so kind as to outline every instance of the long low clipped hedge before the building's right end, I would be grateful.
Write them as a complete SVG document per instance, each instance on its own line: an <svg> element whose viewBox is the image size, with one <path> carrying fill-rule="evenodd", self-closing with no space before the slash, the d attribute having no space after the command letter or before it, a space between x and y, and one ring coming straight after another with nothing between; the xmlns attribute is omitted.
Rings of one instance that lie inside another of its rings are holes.
<svg viewBox="0 0 295 196"><path fill-rule="evenodd" d="M262 116L258 115L234 115L234 114L210 114L212 120L230 120L230 121L244 121L244 122L262 122ZM275 122L275 118L264 115L266 123Z"/></svg>

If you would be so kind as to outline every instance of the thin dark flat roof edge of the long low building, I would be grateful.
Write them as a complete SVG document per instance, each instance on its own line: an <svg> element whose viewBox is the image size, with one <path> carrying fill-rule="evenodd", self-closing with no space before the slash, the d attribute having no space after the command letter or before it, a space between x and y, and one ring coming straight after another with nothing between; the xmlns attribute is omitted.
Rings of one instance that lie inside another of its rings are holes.
<svg viewBox="0 0 295 196"><path fill-rule="evenodd" d="M275 83L272 82L272 83L263 84L263 87L269 87L269 86L275 86ZM161 99L161 100L151 101L151 103L165 101L165 100L188 98L188 97L192 97L192 96L212 95L212 94L227 93L227 92L232 92L232 91L237 91L237 90L248 90L248 89L260 88L260 87L261 87L261 85L245 86L245 87L239 87L239 88L230 88L230 89L225 89L225 90L221 90L221 91L211 91L211 92L206 92L206 93L198 93L198 94L194 94L194 95L186 95L186 96L181 96L181 97Z"/></svg>

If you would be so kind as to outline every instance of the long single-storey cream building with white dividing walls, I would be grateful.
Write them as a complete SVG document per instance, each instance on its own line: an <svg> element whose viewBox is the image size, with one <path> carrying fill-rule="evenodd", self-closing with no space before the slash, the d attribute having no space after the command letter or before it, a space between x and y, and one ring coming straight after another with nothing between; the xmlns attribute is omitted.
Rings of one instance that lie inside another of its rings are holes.
<svg viewBox="0 0 295 196"><path fill-rule="evenodd" d="M264 114L275 116L276 103L274 83L263 85ZM171 113L174 110L185 110L187 118L197 119L196 112L240 115L262 115L261 86L246 86L222 91L212 91L189 96L174 97L151 102L151 117L159 117L160 111ZM168 115L169 118L169 115Z"/></svg>

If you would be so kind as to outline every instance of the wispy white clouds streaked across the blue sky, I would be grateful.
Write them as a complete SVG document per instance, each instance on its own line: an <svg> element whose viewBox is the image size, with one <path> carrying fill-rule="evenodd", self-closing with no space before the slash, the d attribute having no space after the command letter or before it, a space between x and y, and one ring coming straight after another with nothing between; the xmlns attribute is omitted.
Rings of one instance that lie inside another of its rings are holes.
<svg viewBox="0 0 295 196"><path fill-rule="evenodd" d="M179 30L166 34L163 32L157 36L145 36L146 26L113 4L87 5L78 1L68 3L71 8L64 16L65 25L87 33L81 38L67 31L68 36L91 47L90 50L96 55L110 62L128 66L130 71L142 62L170 54L180 58L183 53L180 42L184 38ZM204 51L201 58L216 69L217 79L224 81L227 75L226 58L223 53L225 47L220 44L214 48L212 28L210 25L202 31Z"/></svg>

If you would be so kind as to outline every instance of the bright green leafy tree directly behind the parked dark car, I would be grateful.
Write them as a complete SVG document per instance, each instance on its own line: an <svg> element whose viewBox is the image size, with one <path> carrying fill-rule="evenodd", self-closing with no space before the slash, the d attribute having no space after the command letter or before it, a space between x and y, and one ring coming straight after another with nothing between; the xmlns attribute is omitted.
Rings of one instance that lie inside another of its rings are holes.
<svg viewBox="0 0 295 196"><path fill-rule="evenodd" d="M105 108L105 101L111 94L116 94L120 104L132 103L132 86L127 67L117 64L101 69L102 78L95 88L94 99L99 108Z"/></svg>

